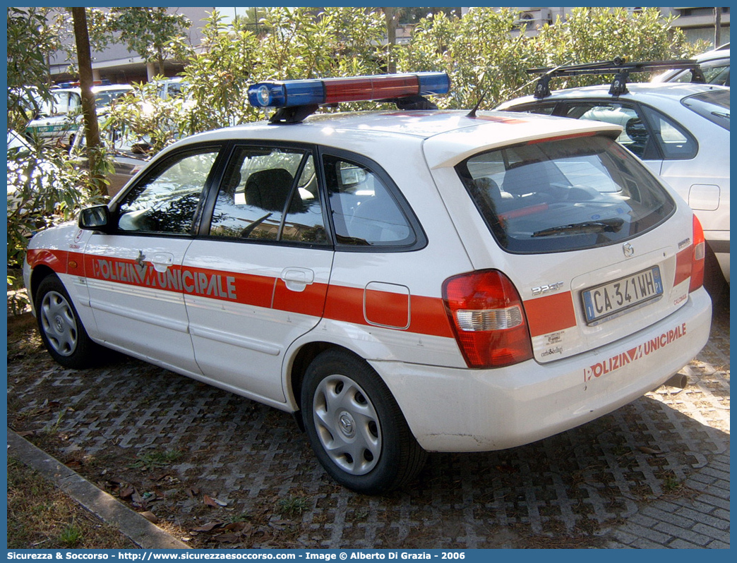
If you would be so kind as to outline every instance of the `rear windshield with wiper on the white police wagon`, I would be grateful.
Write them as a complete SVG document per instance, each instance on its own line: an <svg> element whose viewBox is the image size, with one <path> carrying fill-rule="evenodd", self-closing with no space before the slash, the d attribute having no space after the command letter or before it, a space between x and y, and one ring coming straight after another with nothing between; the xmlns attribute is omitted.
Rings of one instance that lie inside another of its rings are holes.
<svg viewBox="0 0 737 563"><path fill-rule="evenodd" d="M603 136L492 150L456 170L489 231L514 253L621 242L659 225L675 208L647 169Z"/></svg>

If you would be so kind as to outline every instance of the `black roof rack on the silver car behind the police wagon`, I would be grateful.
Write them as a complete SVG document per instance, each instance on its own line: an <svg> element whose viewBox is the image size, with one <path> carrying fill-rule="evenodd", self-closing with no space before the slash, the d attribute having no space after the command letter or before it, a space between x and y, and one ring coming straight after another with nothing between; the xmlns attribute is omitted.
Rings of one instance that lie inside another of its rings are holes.
<svg viewBox="0 0 737 563"><path fill-rule="evenodd" d="M628 63L625 57L603 60L598 63L551 66L527 69L528 74L542 74L535 85L534 97L541 99L551 95L550 81L553 77L579 76L581 74L614 74L609 94L618 96L627 93L627 80L631 72L650 72L666 69L690 69L691 82L705 83L699 63L694 59L654 60L642 63Z"/></svg>

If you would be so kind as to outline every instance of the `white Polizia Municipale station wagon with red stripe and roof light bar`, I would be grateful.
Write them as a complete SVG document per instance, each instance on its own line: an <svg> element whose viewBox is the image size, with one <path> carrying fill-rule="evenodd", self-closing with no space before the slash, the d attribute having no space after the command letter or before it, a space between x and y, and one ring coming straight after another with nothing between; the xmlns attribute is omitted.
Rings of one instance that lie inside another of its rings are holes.
<svg viewBox="0 0 737 563"><path fill-rule="evenodd" d="M621 127L422 98L449 85L251 87L270 122L179 141L33 237L49 353L114 349L297 413L364 493L426 451L528 444L666 382L710 328L691 209ZM404 109L308 117L361 99Z"/></svg>

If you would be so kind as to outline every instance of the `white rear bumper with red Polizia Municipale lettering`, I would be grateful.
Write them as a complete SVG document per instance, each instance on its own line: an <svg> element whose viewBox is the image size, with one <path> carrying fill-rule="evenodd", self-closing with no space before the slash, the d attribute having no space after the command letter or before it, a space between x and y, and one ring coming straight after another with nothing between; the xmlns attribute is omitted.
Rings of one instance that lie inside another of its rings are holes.
<svg viewBox="0 0 737 563"><path fill-rule="evenodd" d="M503 450L603 416L662 385L709 338L702 288L673 315L593 352L495 370L373 362L428 451Z"/></svg>

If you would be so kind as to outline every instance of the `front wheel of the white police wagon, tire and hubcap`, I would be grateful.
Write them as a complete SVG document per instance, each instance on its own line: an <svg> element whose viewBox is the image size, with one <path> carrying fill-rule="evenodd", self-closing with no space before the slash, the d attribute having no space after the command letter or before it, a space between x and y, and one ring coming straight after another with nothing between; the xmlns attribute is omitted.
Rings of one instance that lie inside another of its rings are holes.
<svg viewBox="0 0 737 563"><path fill-rule="evenodd" d="M58 276L52 274L41 280L35 307L41 340L57 363L65 368L83 369L99 362L102 348L87 335Z"/></svg>

